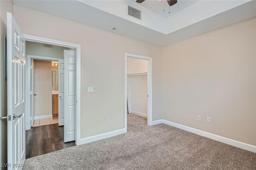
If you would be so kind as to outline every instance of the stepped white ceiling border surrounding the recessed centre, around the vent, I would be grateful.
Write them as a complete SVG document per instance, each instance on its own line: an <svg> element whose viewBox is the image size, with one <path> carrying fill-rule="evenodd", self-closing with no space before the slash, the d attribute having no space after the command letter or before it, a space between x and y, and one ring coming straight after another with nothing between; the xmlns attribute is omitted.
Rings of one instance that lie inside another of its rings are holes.
<svg viewBox="0 0 256 170"><path fill-rule="evenodd" d="M13 0L13 3L160 46L256 16L256 0L198 0L186 8L180 7L168 18L149 9L153 6L146 8L131 0ZM142 11L142 20L128 16L128 5Z"/></svg>

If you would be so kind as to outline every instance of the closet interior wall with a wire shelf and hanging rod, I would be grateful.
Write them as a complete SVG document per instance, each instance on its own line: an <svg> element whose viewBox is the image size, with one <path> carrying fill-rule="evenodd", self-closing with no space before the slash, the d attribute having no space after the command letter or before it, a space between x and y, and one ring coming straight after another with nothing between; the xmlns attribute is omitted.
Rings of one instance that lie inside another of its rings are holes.
<svg viewBox="0 0 256 170"><path fill-rule="evenodd" d="M147 117L148 61L127 58L127 97L129 113ZM131 74L140 75L131 75Z"/></svg>

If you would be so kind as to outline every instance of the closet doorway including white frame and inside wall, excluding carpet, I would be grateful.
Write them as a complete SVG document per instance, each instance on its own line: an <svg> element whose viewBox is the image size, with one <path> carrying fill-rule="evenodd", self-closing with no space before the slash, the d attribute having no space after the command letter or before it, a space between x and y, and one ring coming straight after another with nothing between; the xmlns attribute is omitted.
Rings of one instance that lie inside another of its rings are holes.
<svg viewBox="0 0 256 170"><path fill-rule="evenodd" d="M125 54L125 106L126 130L129 113L152 125L152 58Z"/></svg>

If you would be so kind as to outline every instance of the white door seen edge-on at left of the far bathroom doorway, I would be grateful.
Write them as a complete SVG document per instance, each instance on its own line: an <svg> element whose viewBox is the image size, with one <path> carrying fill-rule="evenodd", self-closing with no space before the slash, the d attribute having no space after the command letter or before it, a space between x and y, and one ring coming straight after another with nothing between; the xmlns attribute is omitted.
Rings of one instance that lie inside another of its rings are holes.
<svg viewBox="0 0 256 170"><path fill-rule="evenodd" d="M31 127L34 124L34 116L35 116L35 62L31 60Z"/></svg>

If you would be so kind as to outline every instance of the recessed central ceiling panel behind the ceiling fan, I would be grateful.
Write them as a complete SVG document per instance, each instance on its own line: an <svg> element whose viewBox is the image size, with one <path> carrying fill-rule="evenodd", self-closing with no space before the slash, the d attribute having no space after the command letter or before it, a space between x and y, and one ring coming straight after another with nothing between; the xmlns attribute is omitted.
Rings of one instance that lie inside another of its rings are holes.
<svg viewBox="0 0 256 170"><path fill-rule="evenodd" d="M136 0L131 1L136 2ZM145 0L140 5L155 12L156 14L159 14L160 16L168 18L172 14L175 14L176 12L179 12L180 10L187 8L188 6L196 3L197 1L198 0L178 0L176 4L174 4L173 6L169 6L167 0ZM170 14L168 13L169 7Z"/></svg>

